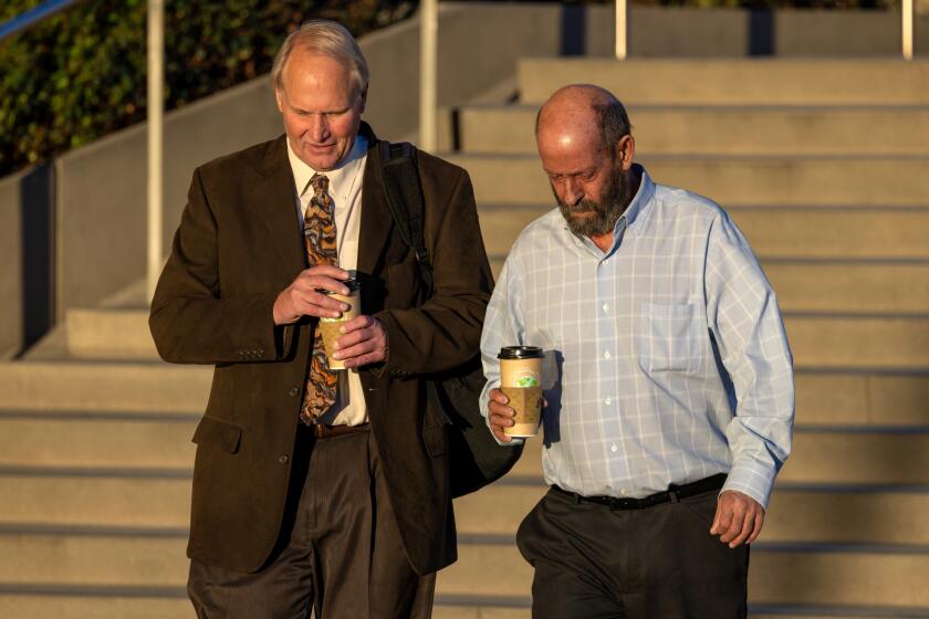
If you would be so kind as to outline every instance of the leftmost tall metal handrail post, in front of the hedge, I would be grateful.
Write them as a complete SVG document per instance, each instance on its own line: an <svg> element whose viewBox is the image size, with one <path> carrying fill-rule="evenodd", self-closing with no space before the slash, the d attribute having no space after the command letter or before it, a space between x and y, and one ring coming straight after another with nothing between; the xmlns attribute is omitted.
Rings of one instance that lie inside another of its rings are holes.
<svg viewBox="0 0 929 619"><path fill-rule="evenodd" d="M148 300L161 271L165 2L148 0Z"/></svg>

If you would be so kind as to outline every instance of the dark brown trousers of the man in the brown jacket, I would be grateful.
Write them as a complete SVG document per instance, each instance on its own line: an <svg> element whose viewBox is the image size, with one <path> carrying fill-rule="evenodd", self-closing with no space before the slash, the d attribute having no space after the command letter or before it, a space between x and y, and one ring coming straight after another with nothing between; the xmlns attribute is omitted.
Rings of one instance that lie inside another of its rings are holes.
<svg viewBox="0 0 929 619"><path fill-rule="evenodd" d="M301 434L311 451L289 535L254 574L191 562L197 617L304 619L311 608L317 619L430 617L435 574L419 577L409 565L370 433Z"/></svg>

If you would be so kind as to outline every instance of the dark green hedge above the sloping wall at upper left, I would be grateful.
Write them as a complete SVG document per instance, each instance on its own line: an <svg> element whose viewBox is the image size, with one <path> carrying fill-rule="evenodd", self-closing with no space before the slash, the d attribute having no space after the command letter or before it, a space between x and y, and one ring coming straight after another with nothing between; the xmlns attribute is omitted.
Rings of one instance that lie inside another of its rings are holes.
<svg viewBox="0 0 929 619"><path fill-rule="evenodd" d="M3 0L0 21L39 4ZM166 106L271 70L303 21L356 36L408 17L410 0L166 0ZM85 0L0 42L0 176L145 118L145 0Z"/></svg>

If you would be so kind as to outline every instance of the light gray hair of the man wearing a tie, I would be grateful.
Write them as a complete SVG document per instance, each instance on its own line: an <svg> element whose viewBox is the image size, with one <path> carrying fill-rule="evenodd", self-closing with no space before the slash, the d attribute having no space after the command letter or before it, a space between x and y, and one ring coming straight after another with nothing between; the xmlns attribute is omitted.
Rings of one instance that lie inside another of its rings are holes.
<svg viewBox="0 0 929 619"><path fill-rule="evenodd" d="M354 36L344 25L323 19L305 22L284 39L284 43L274 57L274 65L271 67L271 80L275 90L284 90L284 69L291 52L298 46L344 63L352 74L352 81L357 88L356 92L362 98L367 95L367 61L362 54L358 43L355 42Z"/></svg>

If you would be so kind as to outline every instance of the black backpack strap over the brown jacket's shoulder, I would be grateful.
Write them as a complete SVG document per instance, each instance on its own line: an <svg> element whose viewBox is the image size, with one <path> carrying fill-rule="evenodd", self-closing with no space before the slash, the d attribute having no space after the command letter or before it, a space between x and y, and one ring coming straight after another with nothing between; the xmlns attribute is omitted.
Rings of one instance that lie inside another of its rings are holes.
<svg viewBox="0 0 929 619"><path fill-rule="evenodd" d="M404 242L416 254L426 290L431 294L432 264L426 251L425 203L416 166L416 147L408 141L390 144L382 140L380 166L384 195L387 197L390 214Z"/></svg>

